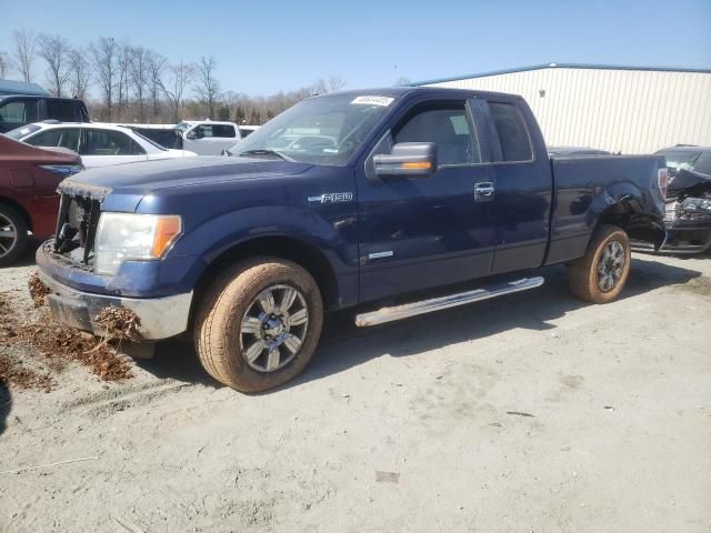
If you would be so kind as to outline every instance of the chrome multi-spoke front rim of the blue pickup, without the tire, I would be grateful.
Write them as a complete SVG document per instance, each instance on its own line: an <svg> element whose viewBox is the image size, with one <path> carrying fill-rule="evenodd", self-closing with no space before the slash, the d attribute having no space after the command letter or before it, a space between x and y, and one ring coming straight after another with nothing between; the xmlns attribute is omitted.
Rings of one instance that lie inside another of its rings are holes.
<svg viewBox="0 0 711 533"><path fill-rule="evenodd" d="M293 286L272 285L249 304L240 324L240 348L259 372L274 372L299 353L309 328L309 309Z"/></svg>

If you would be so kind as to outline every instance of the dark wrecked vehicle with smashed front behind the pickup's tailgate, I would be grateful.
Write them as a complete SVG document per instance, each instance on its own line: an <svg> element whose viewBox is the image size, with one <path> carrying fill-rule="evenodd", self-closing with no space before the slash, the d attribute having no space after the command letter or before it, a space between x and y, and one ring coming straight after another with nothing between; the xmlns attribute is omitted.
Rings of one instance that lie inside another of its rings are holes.
<svg viewBox="0 0 711 533"><path fill-rule="evenodd" d="M711 175L679 170L667 197L667 239L657 252L692 254L711 249ZM633 249L654 251L640 242L634 242Z"/></svg>

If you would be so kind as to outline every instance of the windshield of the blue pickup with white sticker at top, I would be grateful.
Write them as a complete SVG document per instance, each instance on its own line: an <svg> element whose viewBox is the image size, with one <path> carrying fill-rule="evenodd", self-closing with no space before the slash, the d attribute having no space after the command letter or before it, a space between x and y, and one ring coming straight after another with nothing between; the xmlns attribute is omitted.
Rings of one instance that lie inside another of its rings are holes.
<svg viewBox="0 0 711 533"><path fill-rule="evenodd" d="M300 163L343 167L393 100L370 94L311 98L277 115L229 152L246 157L277 152Z"/></svg>

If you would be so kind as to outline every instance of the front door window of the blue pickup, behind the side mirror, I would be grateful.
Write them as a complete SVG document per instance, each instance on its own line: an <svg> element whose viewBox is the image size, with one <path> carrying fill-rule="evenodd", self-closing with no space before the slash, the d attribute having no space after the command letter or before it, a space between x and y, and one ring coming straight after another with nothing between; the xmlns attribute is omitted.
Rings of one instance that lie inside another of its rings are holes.
<svg viewBox="0 0 711 533"><path fill-rule="evenodd" d="M424 109L405 119L394 135L399 142L433 142L438 164L479 163L481 158L464 105Z"/></svg>

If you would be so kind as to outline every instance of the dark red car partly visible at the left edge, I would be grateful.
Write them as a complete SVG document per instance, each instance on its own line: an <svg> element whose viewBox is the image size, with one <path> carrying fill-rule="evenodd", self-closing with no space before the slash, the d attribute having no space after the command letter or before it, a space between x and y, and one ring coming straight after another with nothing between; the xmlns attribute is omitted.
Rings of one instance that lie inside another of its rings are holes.
<svg viewBox="0 0 711 533"><path fill-rule="evenodd" d="M64 149L40 149L0 134L0 266L24 250L29 233L54 233L57 185L83 170L81 159Z"/></svg>

